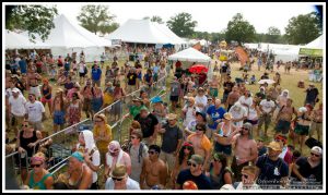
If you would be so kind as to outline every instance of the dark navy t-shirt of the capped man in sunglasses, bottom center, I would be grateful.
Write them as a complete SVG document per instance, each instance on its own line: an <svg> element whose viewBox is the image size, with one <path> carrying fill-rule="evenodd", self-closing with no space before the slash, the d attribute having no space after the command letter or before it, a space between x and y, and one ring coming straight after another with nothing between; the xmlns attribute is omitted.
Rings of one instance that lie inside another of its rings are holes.
<svg viewBox="0 0 328 195"><path fill-rule="evenodd" d="M212 190L211 181L208 176L201 173L199 176L194 176L190 169L185 169L179 172L176 183L181 187L186 181L192 181L197 185L198 190Z"/></svg>

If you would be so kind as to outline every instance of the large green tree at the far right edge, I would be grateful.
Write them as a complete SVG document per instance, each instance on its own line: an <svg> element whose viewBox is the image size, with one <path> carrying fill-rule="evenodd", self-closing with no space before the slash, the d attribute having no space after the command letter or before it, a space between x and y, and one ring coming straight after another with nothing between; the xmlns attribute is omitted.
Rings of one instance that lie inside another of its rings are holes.
<svg viewBox="0 0 328 195"><path fill-rule="evenodd" d="M315 12L292 17L285 27L289 44L308 44L323 34L321 22Z"/></svg>

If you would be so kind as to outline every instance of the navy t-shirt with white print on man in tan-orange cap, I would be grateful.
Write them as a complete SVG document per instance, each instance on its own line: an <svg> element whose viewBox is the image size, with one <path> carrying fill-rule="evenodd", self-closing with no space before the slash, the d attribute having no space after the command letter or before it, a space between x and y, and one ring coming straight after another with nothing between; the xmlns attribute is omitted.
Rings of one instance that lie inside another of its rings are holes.
<svg viewBox="0 0 328 195"><path fill-rule="evenodd" d="M279 188L280 180L289 175L289 166L281 158L272 161L268 155L262 155L258 158L256 167L260 169L257 184L261 188Z"/></svg>

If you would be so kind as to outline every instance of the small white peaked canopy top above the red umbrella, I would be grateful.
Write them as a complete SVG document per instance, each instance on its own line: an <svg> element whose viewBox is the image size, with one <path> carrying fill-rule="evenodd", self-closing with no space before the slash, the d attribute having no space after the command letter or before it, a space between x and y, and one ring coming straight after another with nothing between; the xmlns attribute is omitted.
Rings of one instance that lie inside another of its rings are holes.
<svg viewBox="0 0 328 195"><path fill-rule="evenodd" d="M194 48L188 48L177 53L171 54L167 58L173 61L187 61L187 62L201 62L201 63L210 63L211 58L209 56L203 54Z"/></svg>

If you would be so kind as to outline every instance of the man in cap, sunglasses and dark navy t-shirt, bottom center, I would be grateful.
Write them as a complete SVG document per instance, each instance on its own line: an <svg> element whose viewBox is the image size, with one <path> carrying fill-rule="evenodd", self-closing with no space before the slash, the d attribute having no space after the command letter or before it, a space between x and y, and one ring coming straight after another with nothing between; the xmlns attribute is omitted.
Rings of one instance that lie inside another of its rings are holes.
<svg viewBox="0 0 328 195"><path fill-rule="evenodd" d="M188 161L189 169L179 172L175 188L181 190L186 181L192 181L198 190L212 190L210 179L202 172L203 158L192 155Z"/></svg>

